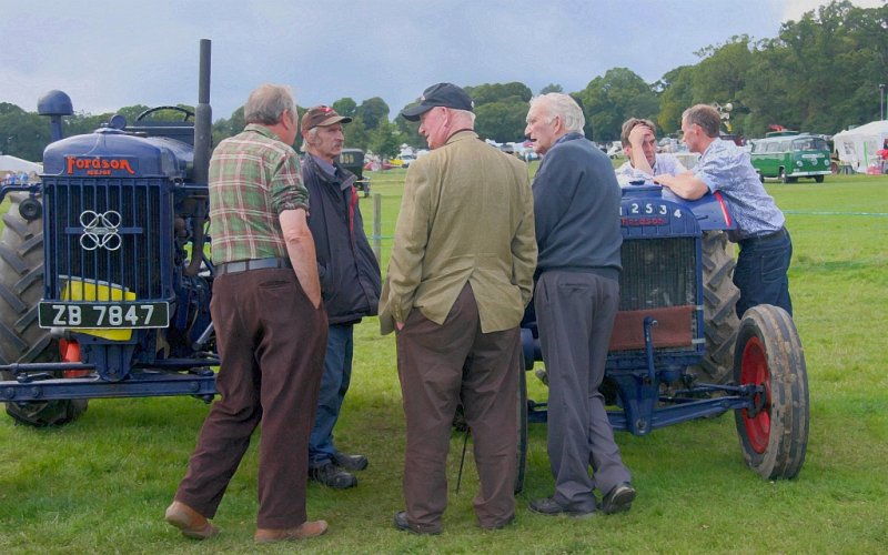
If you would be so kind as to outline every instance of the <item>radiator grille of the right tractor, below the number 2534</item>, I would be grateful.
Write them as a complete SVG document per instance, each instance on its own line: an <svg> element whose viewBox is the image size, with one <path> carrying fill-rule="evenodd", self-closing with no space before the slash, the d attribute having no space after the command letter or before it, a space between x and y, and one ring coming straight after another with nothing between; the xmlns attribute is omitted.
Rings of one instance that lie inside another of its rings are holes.
<svg viewBox="0 0 888 555"><path fill-rule="evenodd" d="M695 238L623 242L619 310L697 304Z"/></svg>

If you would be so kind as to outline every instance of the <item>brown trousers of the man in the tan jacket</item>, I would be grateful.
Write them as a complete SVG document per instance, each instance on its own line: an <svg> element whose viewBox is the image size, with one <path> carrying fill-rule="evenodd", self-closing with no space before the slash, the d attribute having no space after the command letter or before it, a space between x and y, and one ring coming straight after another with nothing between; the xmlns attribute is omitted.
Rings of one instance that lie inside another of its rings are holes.
<svg viewBox="0 0 888 555"><path fill-rule="evenodd" d="M474 440L481 526L515 514L518 327L482 333L466 284L443 325L414 309L397 332L397 374L407 423L404 500L407 521L437 527L447 506L446 460L456 405L462 400Z"/></svg>

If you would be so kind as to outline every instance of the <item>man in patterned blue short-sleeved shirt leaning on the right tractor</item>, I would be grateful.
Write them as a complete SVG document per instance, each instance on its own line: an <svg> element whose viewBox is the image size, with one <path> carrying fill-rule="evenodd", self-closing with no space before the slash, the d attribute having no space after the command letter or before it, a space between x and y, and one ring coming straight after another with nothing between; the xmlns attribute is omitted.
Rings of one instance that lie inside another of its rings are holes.
<svg viewBox="0 0 888 555"><path fill-rule="evenodd" d="M789 261L793 241L784 225L786 218L765 191L749 154L718 137L722 118L707 104L688 108L682 114L682 132L690 152L700 153L692 171L662 174L654 181L683 199L696 200L720 191L737 223L728 239L740 245L734 284L740 290L737 316L758 304L773 304L793 315L789 296Z"/></svg>

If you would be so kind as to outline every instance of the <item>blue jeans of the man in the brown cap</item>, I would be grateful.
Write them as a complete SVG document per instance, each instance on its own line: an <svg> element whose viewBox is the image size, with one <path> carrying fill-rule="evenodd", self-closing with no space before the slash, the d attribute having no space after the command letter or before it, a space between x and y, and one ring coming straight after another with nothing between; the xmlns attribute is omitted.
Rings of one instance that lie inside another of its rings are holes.
<svg viewBox="0 0 888 555"><path fill-rule="evenodd" d="M330 464L336 447L333 446L333 427L340 417L342 401L352 380L352 354L354 350L354 324L330 325L324 376L317 396L317 413L309 440L309 467Z"/></svg>

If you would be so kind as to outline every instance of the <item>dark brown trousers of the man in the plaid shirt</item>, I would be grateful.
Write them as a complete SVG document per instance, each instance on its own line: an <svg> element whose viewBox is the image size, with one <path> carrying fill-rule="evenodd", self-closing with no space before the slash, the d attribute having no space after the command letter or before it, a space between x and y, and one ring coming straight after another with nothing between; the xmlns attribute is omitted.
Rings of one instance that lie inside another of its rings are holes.
<svg viewBox="0 0 888 555"><path fill-rule="evenodd" d="M210 305L222 365L220 398L203 423L175 493L215 515L260 423L260 528L306 521L309 433L326 346L326 313L314 309L293 270L224 274Z"/></svg>

